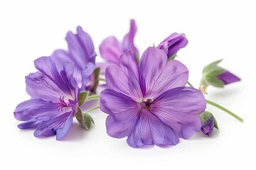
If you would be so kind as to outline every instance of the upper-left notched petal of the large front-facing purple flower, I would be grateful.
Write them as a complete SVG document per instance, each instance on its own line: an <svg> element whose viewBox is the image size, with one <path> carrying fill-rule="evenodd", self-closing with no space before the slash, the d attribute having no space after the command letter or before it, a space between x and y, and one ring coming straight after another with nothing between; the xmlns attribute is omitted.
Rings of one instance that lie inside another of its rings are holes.
<svg viewBox="0 0 256 170"><path fill-rule="evenodd" d="M105 77L109 89L126 94L135 101L142 101L139 68L132 51L122 54L119 65L107 67Z"/></svg>

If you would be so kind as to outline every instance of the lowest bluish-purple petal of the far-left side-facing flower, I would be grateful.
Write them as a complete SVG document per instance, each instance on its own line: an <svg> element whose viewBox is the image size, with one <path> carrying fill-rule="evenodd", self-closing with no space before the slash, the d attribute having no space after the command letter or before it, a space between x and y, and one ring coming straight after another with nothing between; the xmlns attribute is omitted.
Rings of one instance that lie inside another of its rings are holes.
<svg viewBox="0 0 256 170"><path fill-rule="evenodd" d="M38 125L38 128L36 128L34 132L34 136L48 137L55 135L58 130L60 135L58 135L57 140L60 140L61 137L63 137L70 129L70 117L73 118L73 111L66 112L58 116L53 115L49 120L43 121Z"/></svg>

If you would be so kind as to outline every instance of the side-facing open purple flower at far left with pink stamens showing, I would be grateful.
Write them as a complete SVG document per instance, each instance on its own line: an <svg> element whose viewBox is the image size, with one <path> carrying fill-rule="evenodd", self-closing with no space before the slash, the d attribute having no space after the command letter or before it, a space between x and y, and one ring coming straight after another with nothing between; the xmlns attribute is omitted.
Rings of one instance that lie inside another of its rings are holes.
<svg viewBox="0 0 256 170"><path fill-rule="evenodd" d="M62 139L73 123L78 111L78 83L73 77L73 62L65 62L57 69L50 57L35 61L39 72L28 74L26 91L31 99L20 103L14 111L17 120L25 121L20 129L36 128L36 137L56 134Z"/></svg>

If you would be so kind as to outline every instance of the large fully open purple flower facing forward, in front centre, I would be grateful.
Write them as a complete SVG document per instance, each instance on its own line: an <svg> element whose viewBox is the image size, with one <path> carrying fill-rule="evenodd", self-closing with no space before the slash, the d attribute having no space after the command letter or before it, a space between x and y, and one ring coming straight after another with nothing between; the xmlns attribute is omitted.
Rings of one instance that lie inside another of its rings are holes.
<svg viewBox="0 0 256 170"><path fill-rule="evenodd" d="M197 89L185 87L188 69L166 53L149 47L137 64L133 52L124 53L119 65L106 69L108 89L100 108L109 114L108 135L128 137L131 147L176 145L201 130L198 113L206 100Z"/></svg>

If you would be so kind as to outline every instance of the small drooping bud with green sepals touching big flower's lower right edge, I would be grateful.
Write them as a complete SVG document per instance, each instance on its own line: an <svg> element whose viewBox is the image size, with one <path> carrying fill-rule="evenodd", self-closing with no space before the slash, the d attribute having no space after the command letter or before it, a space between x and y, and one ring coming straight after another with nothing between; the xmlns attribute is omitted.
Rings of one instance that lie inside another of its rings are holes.
<svg viewBox="0 0 256 170"><path fill-rule="evenodd" d="M213 132L213 128L218 129L217 121L212 113L205 111L204 113L200 114L200 118L202 122L201 131L204 135L210 136Z"/></svg>

